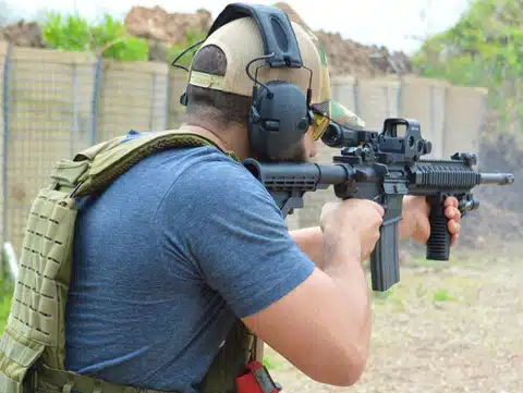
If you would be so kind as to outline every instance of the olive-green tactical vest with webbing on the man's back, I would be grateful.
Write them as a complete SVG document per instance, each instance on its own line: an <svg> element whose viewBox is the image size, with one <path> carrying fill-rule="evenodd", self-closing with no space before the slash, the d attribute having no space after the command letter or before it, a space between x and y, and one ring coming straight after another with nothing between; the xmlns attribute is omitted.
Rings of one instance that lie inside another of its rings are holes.
<svg viewBox="0 0 523 393"><path fill-rule="evenodd" d="M104 192L151 153L208 145L216 146L193 134L157 132L135 138L117 137L56 164L50 184L39 191L27 220L11 314L0 337L0 393L161 393L64 369L64 314L73 263L75 198ZM248 385L246 378L253 376L263 385L262 392L277 392L279 388L263 367L262 358L263 343L238 319L205 376L200 392L236 392L239 384Z"/></svg>

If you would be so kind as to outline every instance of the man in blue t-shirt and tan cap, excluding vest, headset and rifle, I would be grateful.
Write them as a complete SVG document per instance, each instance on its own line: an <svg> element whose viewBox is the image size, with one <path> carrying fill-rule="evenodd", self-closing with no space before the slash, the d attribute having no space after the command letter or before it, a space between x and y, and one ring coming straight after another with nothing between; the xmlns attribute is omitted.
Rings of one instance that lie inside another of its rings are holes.
<svg viewBox="0 0 523 393"><path fill-rule="evenodd" d="M314 71L313 102L325 107L325 59L314 37L293 27L304 65ZM289 233L267 191L220 151L240 160L255 156L246 130L253 82L245 66L263 54L251 17L216 30L192 63L182 131L218 148L149 156L99 197L80 201L68 369L194 393L238 317L316 381L351 385L360 379L370 335L362 262L379 237L384 209L368 200L329 204L320 226ZM305 91L304 73L265 70L259 78L287 79ZM332 121L343 115L360 122L335 107ZM316 116L301 151L285 159L313 157L328 121ZM454 199L446 212L454 243ZM423 198L405 198L401 236L426 242L427 217Z"/></svg>

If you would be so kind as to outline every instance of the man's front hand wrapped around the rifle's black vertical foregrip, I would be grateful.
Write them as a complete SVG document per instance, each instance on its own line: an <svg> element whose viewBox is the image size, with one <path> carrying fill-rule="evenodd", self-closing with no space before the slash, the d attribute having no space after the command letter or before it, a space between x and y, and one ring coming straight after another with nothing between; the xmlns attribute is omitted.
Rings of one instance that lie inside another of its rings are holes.
<svg viewBox="0 0 523 393"><path fill-rule="evenodd" d="M403 198L403 220L400 223L400 236L412 237L415 242L425 244L430 236L428 216L430 205L425 197L408 195ZM450 245L453 246L460 237L461 212L458 209L458 199L449 197L445 200L445 216L447 228L451 234Z"/></svg>

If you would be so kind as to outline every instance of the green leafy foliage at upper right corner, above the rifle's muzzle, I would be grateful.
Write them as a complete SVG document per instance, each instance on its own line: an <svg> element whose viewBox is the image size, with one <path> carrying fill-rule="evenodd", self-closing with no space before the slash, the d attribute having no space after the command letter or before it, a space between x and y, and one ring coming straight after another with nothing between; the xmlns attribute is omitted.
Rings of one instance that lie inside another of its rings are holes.
<svg viewBox="0 0 523 393"><path fill-rule="evenodd" d="M523 125L523 0L475 0L458 23L413 58L425 77L489 89L501 116Z"/></svg>

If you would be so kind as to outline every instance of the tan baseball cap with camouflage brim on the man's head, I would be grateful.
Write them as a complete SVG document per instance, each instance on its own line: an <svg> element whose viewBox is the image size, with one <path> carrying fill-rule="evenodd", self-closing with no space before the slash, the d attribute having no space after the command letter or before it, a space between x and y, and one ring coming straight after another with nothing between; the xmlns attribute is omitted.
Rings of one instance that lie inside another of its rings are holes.
<svg viewBox="0 0 523 393"><path fill-rule="evenodd" d="M350 128L364 126L365 123L355 113L332 100L327 59L316 36L294 22L291 24L297 39L303 65L313 71L312 109L317 125L315 139L319 139L329 121ZM226 54L226 75L210 75L190 69L188 83L198 87L251 97L254 83L247 76L245 69L251 60L265 54L264 42L256 22L252 17L236 19L215 30L198 50L209 45L219 47ZM307 94L311 73L306 69L271 69L259 61L251 66L251 74L254 75L258 65L264 65L258 69L258 81L285 81L295 84L305 95Z"/></svg>

